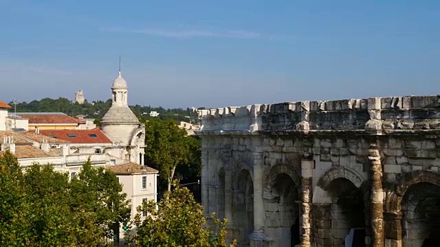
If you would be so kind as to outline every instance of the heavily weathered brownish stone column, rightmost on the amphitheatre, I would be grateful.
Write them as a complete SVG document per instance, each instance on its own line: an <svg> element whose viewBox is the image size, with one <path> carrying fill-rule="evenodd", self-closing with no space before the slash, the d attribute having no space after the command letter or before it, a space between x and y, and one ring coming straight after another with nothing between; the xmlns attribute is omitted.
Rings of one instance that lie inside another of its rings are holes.
<svg viewBox="0 0 440 247"><path fill-rule="evenodd" d="M377 144L371 143L371 231L374 247L384 247L384 192L382 191L382 163Z"/></svg>

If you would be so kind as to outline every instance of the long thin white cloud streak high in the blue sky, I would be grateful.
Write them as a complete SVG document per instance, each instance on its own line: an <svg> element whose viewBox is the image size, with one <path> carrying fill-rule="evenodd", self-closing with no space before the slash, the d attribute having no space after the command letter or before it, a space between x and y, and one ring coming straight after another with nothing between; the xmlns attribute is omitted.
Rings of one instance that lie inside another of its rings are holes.
<svg viewBox="0 0 440 247"><path fill-rule="evenodd" d="M145 28L130 30L126 28L102 28L101 32L126 32L133 34L146 34L150 36L160 36L166 38L262 38L262 34L258 32L248 31L225 31L213 32L206 30L164 30L156 28Z"/></svg>

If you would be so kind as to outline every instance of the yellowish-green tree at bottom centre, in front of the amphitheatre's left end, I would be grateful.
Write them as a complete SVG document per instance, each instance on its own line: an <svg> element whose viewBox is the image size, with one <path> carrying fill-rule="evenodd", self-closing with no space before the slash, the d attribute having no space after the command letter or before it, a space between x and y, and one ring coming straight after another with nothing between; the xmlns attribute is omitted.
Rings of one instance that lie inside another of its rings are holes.
<svg viewBox="0 0 440 247"><path fill-rule="evenodd" d="M129 246L218 246L225 247L225 220L212 214L212 226L203 216L203 207L192 193L177 182L156 205L153 200L137 208L133 221L136 231ZM148 215L142 217L142 215ZM215 232L214 232L215 228ZM234 241L229 246L236 246Z"/></svg>

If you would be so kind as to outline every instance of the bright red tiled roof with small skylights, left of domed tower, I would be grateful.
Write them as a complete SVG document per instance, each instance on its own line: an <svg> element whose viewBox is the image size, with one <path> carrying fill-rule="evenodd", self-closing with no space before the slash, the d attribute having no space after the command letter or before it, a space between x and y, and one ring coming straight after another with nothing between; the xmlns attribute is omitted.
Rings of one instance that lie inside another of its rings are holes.
<svg viewBox="0 0 440 247"><path fill-rule="evenodd" d="M98 128L91 130L40 130L40 134L71 143L112 143Z"/></svg>

